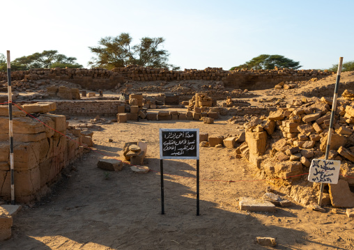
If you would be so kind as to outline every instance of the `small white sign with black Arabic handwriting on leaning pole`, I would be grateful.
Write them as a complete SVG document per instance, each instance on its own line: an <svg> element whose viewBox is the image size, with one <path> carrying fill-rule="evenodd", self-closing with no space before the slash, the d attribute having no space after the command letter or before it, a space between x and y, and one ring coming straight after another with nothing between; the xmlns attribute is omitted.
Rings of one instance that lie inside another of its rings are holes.
<svg viewBox="0 0 354 250"><path fill-rule="evenodd" d="M339 171L341 169L341 161L328 159L313 159L309 169L310 182L321 182L337 184Z"/></svg>

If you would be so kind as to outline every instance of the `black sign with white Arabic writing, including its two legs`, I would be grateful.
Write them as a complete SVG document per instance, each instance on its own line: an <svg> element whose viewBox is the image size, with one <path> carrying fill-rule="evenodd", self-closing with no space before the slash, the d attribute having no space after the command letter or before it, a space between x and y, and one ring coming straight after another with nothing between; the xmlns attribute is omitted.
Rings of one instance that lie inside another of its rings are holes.
<svg viewBox="0 0 354 250"><path fill-rule="evenodd" d="M197 216L199 216L199 129L160 129L161 214L164 214L163 159L197 159Z"/></svg>

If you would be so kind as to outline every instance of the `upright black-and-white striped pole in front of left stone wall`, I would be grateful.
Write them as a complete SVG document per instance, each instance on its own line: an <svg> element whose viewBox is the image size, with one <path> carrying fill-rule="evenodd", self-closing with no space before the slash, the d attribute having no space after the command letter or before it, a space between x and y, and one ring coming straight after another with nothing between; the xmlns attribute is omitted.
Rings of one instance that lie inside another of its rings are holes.
<svg viewBox="0 0 354 250"><path fill-rule="evenodd" d="M10 176L11 176L11 204L15 205L15 184L13 176L13 93L11 90L10 50L7 51L8 61L8 130L10 135Z"/></svg>

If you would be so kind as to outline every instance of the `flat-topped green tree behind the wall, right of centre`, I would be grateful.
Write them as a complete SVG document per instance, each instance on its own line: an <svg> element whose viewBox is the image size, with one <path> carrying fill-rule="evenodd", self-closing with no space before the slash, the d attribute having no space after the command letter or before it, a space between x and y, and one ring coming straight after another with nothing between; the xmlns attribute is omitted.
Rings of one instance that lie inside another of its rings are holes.
<svg viewBox="0 0 354 250"><path fill-rule="evenodd" d="M240 70L242 68L253 68L254 70L274 70L275 67L291 68L296 70L302 66L300 65L300 62L293 61L284 56L261 54L246 63L232 67L230 70Z"/></svg>

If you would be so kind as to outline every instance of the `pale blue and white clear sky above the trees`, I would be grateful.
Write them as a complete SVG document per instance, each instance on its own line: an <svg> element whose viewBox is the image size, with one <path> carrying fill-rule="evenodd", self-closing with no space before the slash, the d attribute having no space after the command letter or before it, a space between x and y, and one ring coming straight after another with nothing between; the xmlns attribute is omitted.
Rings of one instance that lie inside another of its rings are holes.
<svg viewBox="0 0 354 250"><path fill-rule="evenodd" d="M229 68L260 54L326 69L354 61L354 1L1 0L0 53L11 60L43 50L74 56L88 68L100 38L130 33L165 39L181 70Z"/></svg>

